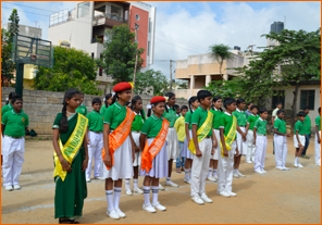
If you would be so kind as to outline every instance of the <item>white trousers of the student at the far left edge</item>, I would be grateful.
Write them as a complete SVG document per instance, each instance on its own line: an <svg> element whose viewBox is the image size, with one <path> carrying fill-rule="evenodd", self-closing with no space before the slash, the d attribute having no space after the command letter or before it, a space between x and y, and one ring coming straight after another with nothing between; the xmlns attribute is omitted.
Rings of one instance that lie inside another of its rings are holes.
<svg viewBox="0 0 322 225"><path fill-rule="evenodd" d="M3 155L3 187L18 185L25 153L25 138L2 138L1 153Z"/></svg>

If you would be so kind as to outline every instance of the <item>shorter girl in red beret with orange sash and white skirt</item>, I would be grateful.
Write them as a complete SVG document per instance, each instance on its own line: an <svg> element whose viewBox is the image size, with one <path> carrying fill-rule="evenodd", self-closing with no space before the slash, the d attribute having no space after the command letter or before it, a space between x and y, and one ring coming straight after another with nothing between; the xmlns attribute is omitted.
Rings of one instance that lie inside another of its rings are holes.
<svg viewBox="0 0 322 225"><path fill-rule="evenodd" d="M165 211L166 208L158 201L159 179L168 176L168 151L166 137L170 123L162 116L164 113L165 98L162 96L153 97L150 100L152 109L149 109L146 123L141 128L139 137L140 149L144 149L141 155L140 175L144 179L145 203L143 209L147 212L157 210ZM174 111L173 111L174 112ZM150 203L150 189L152 189L152 204Z"/></svg>

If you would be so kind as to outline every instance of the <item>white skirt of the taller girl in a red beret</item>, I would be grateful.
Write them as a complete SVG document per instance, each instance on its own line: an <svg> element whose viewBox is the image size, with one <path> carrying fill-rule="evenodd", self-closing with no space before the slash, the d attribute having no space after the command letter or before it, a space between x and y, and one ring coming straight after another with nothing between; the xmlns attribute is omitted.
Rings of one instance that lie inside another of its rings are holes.
<svg viewBox="0 0 322 225"><path fill-rule="evenodd" d="M132 145L129 136L126 137L122 146L120 146L113 154L113 166L108 171L107 166L101 166L101 175L103 178L112 178L113 180L133 177L133 158Z"/></svg>

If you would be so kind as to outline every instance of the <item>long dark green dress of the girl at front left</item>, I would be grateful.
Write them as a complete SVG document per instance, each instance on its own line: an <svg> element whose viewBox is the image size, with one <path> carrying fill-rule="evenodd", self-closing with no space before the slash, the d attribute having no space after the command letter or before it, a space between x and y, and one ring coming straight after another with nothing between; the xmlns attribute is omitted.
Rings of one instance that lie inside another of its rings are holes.
<svg viewBox="0 0 322 225"><path fill-rule="evenodd" d="M78 114L67 117L69 130L60 134L62 145L65 145L71 137L77 123ZM58 113L52 128L59 128L62 113ZM84 199L87 197L87 187L85 171L82 172L82 164L85 160L85 150L82 145L78 153L72 162L72 172L69 172L65 180L60 176L54 177L54 217L74 217L78 218L83 214Z"/></svg>

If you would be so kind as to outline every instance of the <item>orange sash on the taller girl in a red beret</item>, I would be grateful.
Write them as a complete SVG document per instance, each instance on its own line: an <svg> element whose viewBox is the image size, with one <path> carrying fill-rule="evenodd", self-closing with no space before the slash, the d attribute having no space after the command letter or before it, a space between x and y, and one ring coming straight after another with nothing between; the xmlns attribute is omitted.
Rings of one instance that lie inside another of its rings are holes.
<svg viewBox="0 0 322 225"><path fill-rule="evenodd" d="M120 146L122 146L124 140L127 138L127 136L131 132L133 118L135 116L134 112L132 112L128 108L126 108L126 110L127 110L126 116L125 116L124 121L122 122L122 124L120 124L116 127L116 129L114 129L112 132L112 134L109 135L109 151L110 151L111 159L112 159L112 166L114 164L113 153ZM104 158L106 158L106 149L103 148L103 150L102 150L103 161L104 161ZM109 171L111 167L107 166L107 168Z"/></svg>

